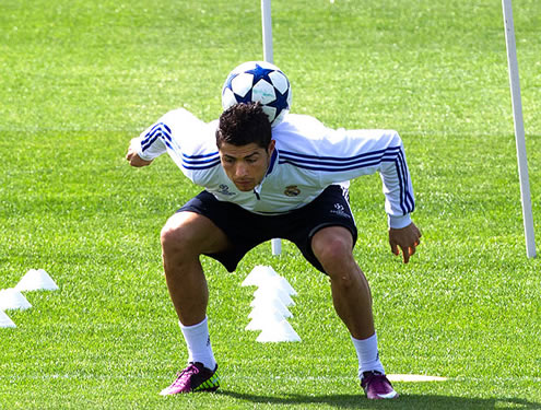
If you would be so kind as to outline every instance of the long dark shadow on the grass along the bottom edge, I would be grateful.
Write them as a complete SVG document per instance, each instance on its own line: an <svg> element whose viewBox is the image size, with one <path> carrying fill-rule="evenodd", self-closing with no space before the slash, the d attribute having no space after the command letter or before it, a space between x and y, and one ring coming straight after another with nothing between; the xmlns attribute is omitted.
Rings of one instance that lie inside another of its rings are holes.
<svg viewBox="0 0 541 410"><path fill-rule="evenodd" d="M284 397L260 396L245 393L221 390L217 395L227 396L252 405L280 406L327 406L341 409L541 409L541 403L516 398L466 398L434 395L402 395L396 400L368 400L360 395L303 396Z"/></svg>

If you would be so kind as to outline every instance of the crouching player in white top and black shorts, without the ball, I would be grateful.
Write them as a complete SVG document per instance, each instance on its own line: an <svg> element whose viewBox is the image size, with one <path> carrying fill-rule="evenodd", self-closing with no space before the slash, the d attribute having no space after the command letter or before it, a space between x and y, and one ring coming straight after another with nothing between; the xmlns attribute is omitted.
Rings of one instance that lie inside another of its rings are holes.
<svg viewBox="0 0 541 410"><path fill-rule="evenodd" d="M170 216L161 233L167 288L189 355L188 366L161 394L215 390L220 385L200 256L232 272L255 246L284 238L330 278L333 305L355 347L366 396L397 397L379 361L368 282L353 258L357 230L344 181L379 172L389 244L408 263L421 233L410 218L413 191L399 134L334 130L294 114L271 128L259 103L243 103L209 124L183 108L169 112L131 141L127 160L145 166L165 152L204 190Z"/></svg>

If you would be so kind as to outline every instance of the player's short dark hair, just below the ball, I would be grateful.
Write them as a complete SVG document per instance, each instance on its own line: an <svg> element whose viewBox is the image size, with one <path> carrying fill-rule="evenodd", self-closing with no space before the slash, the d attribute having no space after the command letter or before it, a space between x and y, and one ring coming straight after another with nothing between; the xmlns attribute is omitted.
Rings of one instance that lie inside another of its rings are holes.
<svg viewBox="0 0 541 410"><path fill-rule="evenodd" d="M240 103L227 108L220 116L216 145L224 142L240 147L255 142L267 149L272 138L269 117L260 103Z"/></svg>

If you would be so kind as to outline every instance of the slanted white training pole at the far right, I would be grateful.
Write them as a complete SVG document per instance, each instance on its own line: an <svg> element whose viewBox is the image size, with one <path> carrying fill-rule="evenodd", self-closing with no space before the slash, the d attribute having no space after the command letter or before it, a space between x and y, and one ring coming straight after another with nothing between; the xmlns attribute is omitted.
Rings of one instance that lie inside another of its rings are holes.
<svg viewBox="0 0 541 410"><path fill-rule="evenodd" d="M526 157L525 125L522 119L522 102L520 98L520 82L518 77L517 45L515 26L513 24L511 0L502 0L504 10L505 40L507 44L507 63L509 67L509 83L515 121L515 139L517 143L518 176L520 178L520 197L522 201L522 219L526 236L526 255L536 257L536 237L533 233L533 216L531 212L530 183L528 176L528 159Z"/></svg>

